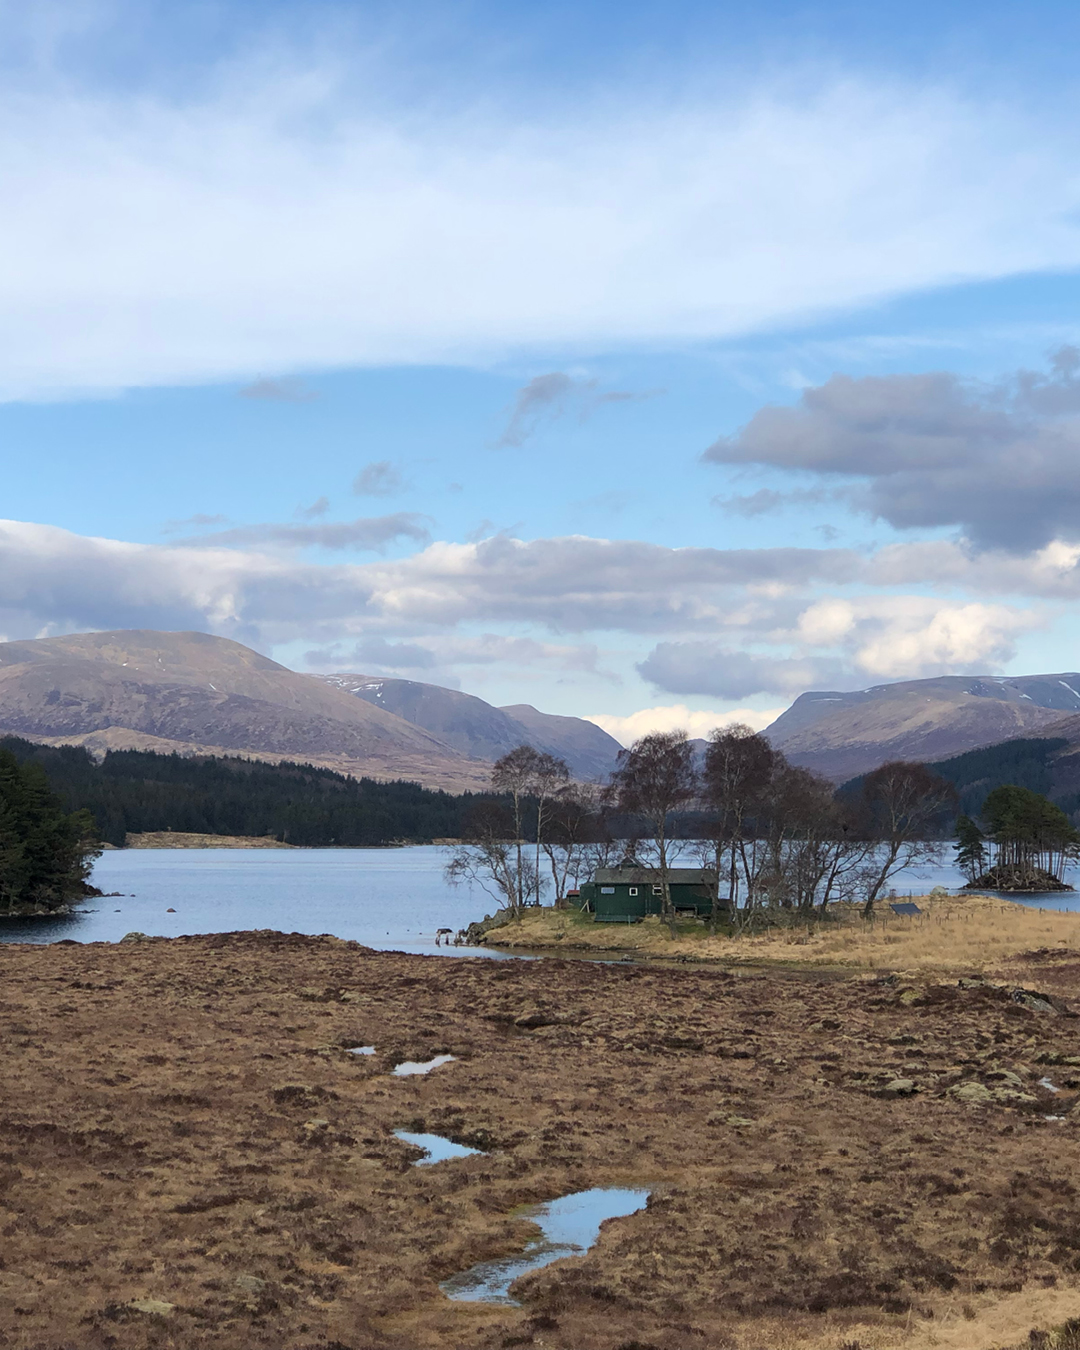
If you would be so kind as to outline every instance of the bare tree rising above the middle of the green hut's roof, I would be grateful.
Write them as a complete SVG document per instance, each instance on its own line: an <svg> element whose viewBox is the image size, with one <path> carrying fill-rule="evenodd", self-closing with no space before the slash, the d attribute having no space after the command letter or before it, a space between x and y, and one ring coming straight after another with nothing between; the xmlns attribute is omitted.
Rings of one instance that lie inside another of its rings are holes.
<svg viewBox="0 0 1080 1350"><path fill-rule="evenodd" d="M671 905L670 824L672 814L693 802L698 790L694 748L686 732L651 732L634 741L630 749L620 751L609 787L617 810L640 815L649 825L659 863L663 914L672 937L675 910Z"/></svg>

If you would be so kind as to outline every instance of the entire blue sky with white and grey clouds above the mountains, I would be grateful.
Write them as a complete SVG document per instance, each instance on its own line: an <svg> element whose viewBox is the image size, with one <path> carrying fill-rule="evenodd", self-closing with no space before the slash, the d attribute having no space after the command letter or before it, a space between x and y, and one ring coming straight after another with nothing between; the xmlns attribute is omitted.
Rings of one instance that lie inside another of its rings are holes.
<svg viewBox="0 0 1080 1350"><path fill-rule="evenodd" d="M1080 11L0 0L0 637L624 741L1073 671Z"/></svg>

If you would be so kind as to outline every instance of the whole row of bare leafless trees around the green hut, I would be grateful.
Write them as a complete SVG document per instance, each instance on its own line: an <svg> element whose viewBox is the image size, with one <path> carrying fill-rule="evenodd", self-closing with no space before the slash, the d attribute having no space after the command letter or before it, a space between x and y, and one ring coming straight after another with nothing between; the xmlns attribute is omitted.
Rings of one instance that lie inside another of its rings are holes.
<svg viewBox="0 0 1080 1350"><path fill-rule="evenodd" d="M491 787L504 801L470 817L447 865L451 883L478 884L518 911L545 890L564 899L625 855L655 867L672 926L671 871L687 855L713 879L713 926L855 898L872 913L890 878L937 856L933 840L956 813L956 788L923 764L883 764L837 792L741 725L714 732L702 757L684 732L644 736L603 787L574 783L562 760L522 745L495 764Z"/></svg>

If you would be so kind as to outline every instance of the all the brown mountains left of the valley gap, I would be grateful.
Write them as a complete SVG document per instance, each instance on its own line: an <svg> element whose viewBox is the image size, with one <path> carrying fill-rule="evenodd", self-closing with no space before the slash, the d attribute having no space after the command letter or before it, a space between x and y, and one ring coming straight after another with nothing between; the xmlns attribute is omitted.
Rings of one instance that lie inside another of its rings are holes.
<svg viewBox="0 0 1080 1350"><path fill-rule="evenodd" d="M302 675L225 637L153 630L0 643L0 734L300 760L455 792L486 788L491 761L526 741L579 778L606 772L621 748L579 718L410 680Z"/></svg>

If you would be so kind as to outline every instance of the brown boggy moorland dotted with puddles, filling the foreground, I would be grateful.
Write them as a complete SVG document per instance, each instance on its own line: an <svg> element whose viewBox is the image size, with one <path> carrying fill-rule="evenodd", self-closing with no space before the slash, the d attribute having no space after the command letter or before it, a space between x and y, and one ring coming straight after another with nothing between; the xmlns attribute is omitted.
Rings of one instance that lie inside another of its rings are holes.
<svg viewBox="0 0 1080 1350"><path fill-rule="evenodd" d="M1050 950L961 986L0 946L0 1346L1018 1345L1080 1310L1071 1000ZM396 1127L490 1153L414 1168ZM590 1185L653 1195L520 1308L439 1292L520 1249L514 1206Z"/></svg>

